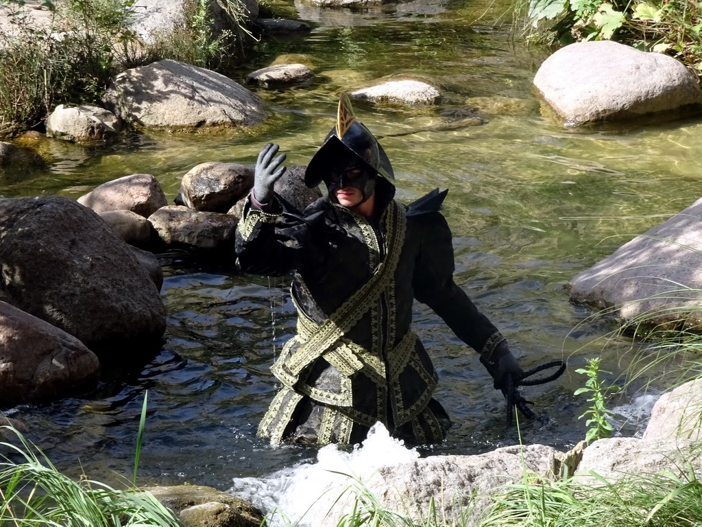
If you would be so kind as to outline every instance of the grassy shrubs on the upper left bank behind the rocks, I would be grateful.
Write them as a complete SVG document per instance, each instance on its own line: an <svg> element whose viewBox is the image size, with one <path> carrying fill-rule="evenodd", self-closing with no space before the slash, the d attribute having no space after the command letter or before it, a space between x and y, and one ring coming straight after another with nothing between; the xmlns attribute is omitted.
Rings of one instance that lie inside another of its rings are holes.
<svg viewBox="0 0 702 527"><path fill-rule="evenodd" d="M46 25L27 15L23 0L0 0L11 11L0 32L0 137L40 129L56 105L99 105L110 78L130 67L172 58L219 67L246 36L240 0L218 0L232 30L213 33L208 2L186 4L183 22L150 44L133 30L135 0L44 0Z"/></svg>

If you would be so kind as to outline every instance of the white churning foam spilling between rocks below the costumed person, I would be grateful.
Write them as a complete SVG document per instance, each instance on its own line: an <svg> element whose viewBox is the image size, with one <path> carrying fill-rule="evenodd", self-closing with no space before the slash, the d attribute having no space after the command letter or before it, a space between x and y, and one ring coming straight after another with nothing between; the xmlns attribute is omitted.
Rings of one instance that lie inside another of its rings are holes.
<svg viewBox="0 0 702 527"><path fill-rule="evenodd" d="M352 452L327 445L319 449L316 463L303 463L263 478L234 478L227 492L253 503L264 514L275 512L268 521L271 527L319 525L319 519L329 510L330 497L335 500L357 480L367 481L380 467L418 457L416 450L390 437L388 430L377 423ZM323 496L326 505L319 502Z"/></svg>

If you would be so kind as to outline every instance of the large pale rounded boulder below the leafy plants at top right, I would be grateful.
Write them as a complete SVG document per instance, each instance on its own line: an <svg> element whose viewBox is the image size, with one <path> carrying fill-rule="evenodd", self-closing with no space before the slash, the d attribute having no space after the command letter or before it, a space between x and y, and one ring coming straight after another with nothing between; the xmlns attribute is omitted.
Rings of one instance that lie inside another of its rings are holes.
<svg viewBox="0 0 702 527"><path fill-rule="evenodd" d="M682 63L609 40L559 49L539 67L534 86L569 126L702 110L702 90Z"/></svg>

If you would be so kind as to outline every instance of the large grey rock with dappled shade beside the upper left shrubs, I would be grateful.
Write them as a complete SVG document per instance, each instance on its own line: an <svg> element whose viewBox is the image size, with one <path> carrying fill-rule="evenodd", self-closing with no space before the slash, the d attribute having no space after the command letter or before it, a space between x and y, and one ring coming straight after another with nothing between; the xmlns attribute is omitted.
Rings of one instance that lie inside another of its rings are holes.
<svg viewBox="0 0 702 527"><path fill-rule="evenodd" d="M120 73L103 100L126 122L169 131L249 126L267 117L263 100L229 77L170 59Z"/></svg>

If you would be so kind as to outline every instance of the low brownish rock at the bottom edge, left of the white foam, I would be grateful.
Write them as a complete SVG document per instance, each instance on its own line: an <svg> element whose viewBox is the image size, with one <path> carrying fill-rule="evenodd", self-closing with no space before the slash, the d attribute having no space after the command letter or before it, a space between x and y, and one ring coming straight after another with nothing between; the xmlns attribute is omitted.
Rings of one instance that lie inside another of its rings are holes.
<svg viewBox="0 0 702 527"><path fill-rule="evenodd" d="M263 514L248 502L199 485L148 487L162 505L176 512L185 527L259 527Z"/></svg>

